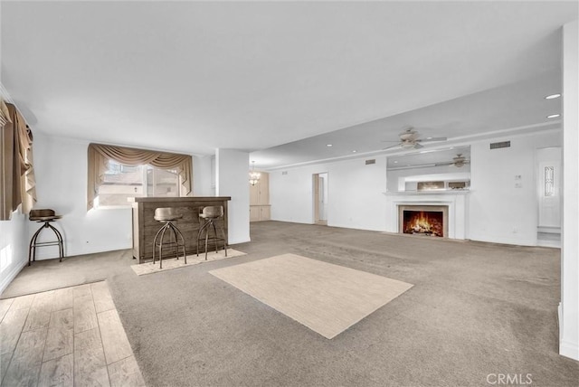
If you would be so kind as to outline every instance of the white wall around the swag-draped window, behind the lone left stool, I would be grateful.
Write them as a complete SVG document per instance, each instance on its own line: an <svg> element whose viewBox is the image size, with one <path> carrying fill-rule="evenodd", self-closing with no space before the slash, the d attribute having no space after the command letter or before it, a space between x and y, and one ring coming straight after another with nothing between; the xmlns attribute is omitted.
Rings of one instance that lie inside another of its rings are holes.
<svg viewBox="0 0 579 387"><path fill-rule="evenodd" d="M132 247L131 209L101 208L87 212L87 147L89 142L64 137L34 135L34 171L38 203L34 208L52 208L62 215L53 225L62 231L67 256ZM194 193L210 190L210 161L194 157ZM198 191L199 190L199 191ZM28 222L28 221L26 221ZM24 250L41 224L28 222ZM42 231L39 241L53 239ZM27 252L26 252L27 254ZM36 259L58 258L58 248L37 249ZM27 259L27 255L26 255Z"/></svg>

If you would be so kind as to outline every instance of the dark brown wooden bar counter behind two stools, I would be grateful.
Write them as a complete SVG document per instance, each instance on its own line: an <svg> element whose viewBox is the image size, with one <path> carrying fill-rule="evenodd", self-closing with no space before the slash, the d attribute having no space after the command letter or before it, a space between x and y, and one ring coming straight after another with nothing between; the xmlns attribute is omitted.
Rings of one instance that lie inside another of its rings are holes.
<svg viewBox="0 0 579 387"><path fill-rule="evenodd" d="M227 238L227 202L231 196L185 196L185 197L135 197L128 201L133 206L133 258L138 263L153 260L153 239L155 234L163 226L153 216L155 209L159 207L173 207L183 215L176 222L176 226L185 238L185 251L187 255L196 253L196 238L199 230L199 208L207 205L223 205L223 220L221 223ZM169 258L175 254L174 249L166 249L163 258ZM204 243L200 243L199 252L204 251Z"/></svg>

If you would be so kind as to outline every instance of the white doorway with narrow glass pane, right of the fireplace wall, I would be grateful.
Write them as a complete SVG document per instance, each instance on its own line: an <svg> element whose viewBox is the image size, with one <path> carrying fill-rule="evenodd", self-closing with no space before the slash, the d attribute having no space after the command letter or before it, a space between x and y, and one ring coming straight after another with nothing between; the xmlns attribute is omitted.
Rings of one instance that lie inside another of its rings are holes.
<svg viewBox="0 0 579 387"><path fill-rule="evenodd" d="M561 247L561 146L536 150L539 246Z"/></svg>

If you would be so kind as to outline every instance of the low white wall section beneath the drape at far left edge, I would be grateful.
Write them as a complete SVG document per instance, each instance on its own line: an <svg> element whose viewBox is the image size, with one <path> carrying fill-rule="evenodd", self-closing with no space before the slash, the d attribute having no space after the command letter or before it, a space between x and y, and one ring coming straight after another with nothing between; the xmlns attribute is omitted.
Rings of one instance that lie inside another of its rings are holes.
<svg viewBox="0 0 579 387"><path fill-rule="evenodd" d="M0 293L28 263L25 216L14 212L10 221L0 222Z"/></svg>

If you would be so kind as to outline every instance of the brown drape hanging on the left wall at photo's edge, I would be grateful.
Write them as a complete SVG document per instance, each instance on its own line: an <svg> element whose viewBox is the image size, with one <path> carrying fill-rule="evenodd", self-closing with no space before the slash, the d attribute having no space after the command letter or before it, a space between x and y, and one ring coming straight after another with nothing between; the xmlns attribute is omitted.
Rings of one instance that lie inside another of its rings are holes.
<svg viewBox="0 0 579 387"><path fill-rule="evenodd" d="M33 169L33 136L24 118L14 105L0 101L4 116L0 136L0 220L10 220L12 212L22 204L28 213L36 202Z"/></svg>

